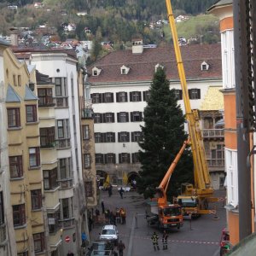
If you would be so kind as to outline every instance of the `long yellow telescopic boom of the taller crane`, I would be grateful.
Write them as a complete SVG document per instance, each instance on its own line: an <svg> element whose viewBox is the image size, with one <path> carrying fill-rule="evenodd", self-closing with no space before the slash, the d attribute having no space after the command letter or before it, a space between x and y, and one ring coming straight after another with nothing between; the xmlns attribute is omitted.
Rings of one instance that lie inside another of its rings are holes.
<svg viewBox="0 0 256 256"><path fill-rule="evenodd" d="M210 175L207 168L207 160L203 140L201 137L201 130L199 125L199 115L196 110L191 109L189 102L189 91L187 87L183 60L177 39L177 29L175 26L174 15L172 12L172 5L170 0L166 0L166 8L169 24L172 31L172 39L177 61L177 70L181 87L183 91L183 102L185 107L186 119L189 126L189 137L191 142L191 150L194 162L194 176L196 195L212 195L213 189L210 188Z"/></svg>

